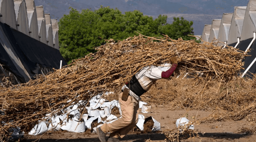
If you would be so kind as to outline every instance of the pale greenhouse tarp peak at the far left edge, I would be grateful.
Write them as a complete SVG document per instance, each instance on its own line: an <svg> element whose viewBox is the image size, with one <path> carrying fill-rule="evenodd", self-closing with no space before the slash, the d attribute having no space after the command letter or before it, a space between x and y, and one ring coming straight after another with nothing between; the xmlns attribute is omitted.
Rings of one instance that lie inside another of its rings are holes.
<svg viewBox="0 0 256 142"><path fill-rule="evenodd" d="M0 22L6 23L11 28L17 29L13 0L0 0Z"/></svg>

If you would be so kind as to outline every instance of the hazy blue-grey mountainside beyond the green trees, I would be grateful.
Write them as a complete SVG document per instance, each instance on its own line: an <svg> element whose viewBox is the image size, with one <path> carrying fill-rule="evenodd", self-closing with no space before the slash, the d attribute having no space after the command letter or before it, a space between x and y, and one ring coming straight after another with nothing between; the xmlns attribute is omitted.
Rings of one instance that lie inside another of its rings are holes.
<svg viewBox="0 0 256 142"><path fill-rule="evenodd" d="M82 9L98 9L101 5L125 11L139 10L143 15L157 18L167 15L167 23L173 17L181 17L193 21L195 35L202 35L205 24L212 19L221 19L223 13L233 13L234 6L247 6L249 0L35 0L36 6L44 6L44 12L50 13L52 19L60 19L69 14L68 7Z"/></svg>

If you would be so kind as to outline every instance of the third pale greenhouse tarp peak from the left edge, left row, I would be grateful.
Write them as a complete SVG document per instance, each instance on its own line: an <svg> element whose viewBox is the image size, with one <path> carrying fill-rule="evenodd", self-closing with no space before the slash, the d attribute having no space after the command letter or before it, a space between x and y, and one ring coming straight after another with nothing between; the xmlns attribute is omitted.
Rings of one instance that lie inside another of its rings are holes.
<svg viewBox="0 0 256 142"><path fill-rule="evenodd" d="M37 24L37 11L34 0L25 0L28 14L28 31L29 36L38 40L38 24Z"/></svg>

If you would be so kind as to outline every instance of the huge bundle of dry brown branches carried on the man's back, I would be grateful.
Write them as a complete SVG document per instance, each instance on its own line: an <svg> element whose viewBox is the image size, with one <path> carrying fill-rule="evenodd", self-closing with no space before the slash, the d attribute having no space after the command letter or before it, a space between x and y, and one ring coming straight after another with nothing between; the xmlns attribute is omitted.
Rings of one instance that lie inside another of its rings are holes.
<svg viewBox="0 0 256 142"><path fill-rule="evenodd" d="M109 40L89 54L61 70L0 91L0 133L7 135L12 127L28 132L38 120L80 100L105 91L119 92L119 87L145 66L178 59L177 74L189 73L205 83L227 81L242 67L242 52L237 49L199 44L195 41L171 40L142 35L117 43ZM203 73L203 74L202 74ZM71 101L69 101L71 100Z"/></svg>

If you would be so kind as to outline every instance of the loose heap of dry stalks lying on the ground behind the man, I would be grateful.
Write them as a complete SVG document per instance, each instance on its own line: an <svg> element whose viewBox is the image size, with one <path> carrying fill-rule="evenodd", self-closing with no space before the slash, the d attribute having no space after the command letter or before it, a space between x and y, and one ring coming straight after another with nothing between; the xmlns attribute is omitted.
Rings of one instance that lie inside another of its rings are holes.
<svg viewBox="0 0 256 142"><path fill-rule="evenodd" d="M236 77L229 82L206 86L195 78L159 80L141 96L143 101L167 105L168 110L206 110L213 114L201 123L215 121L256 121L256 79Z"/></svg>

